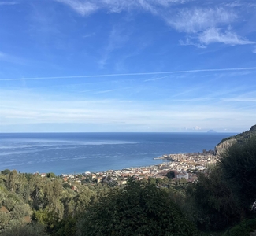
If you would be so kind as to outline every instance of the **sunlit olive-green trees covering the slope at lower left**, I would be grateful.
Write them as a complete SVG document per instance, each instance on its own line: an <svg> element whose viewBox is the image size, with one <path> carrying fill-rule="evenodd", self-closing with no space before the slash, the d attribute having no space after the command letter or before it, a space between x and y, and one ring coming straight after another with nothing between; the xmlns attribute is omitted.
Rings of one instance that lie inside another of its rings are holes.
<svg viewBox="0 0 256 236"><path fill-rule="evenodd" d="M43 230L45 234L58 235L61 221L67 219L71 219L69 222L71 225L67 229L70 231L76 215L109 191L108 186L99 184L80 185L78 192L72 190L62 178L55 175L53 177L50 173L46 176L48 177L42 178L40 175L17 173L15 170L2 171L0 175L2 235L14 235L14 232L17 234L18 229L22 227L23 231L42 232ZM73 185L76 186L76 183ZM28 232L25 235L27 234Z"/></svg>

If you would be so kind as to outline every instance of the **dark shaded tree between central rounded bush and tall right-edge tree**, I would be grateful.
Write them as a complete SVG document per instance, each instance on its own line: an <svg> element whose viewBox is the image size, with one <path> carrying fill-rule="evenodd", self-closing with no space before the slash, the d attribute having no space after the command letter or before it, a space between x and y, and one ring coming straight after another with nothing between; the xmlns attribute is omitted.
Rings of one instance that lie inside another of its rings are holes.
<svg viewBox="0 0 256 236"><path fill-rule="evenodd" d="M223 230L239 221L232 193L218 168L198 175L197 182L187 186L184 208L201 230Z"/></svg>

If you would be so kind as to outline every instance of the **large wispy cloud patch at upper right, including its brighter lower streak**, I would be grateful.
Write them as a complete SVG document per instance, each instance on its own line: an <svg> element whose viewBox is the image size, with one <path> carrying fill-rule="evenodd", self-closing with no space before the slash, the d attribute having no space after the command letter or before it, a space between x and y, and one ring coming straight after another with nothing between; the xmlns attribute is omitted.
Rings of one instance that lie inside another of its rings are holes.
<svg viewBox="0 0 256 236"><path fill-rule="evenodd" d="M199 48L215 42L232 46L254 43L232 32L230 24L237 19L232 9L223 7L180 9L174 17L166 17L169 25L189 35L186 40L180 40L180 45Z"/></svg>

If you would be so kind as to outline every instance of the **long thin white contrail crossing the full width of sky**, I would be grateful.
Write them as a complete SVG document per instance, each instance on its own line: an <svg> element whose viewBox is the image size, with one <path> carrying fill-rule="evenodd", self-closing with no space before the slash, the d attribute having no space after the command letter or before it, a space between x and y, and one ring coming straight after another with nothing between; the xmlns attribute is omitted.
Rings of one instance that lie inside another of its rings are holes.
<svg viewBox="0 0 256 236"><path fill-rule="evenodd" d="M243 68L215 68L215 69L199 69L187 71L171 71L171 72L143 72L143 73L126 73L126 74L106 74L106 75L84 75L84 76L54 76L54 77L29 77L29 78L9 78L0 79L0 81L9 80L36 80L36 79L72 79L72 78L97 78L97 77L111 77L111 76L149 76L161 74L176 74L176 73L197 73L197 72L227 72L227 71L243 71L243 70L256 70L256 67L243 67Z"/></svg>

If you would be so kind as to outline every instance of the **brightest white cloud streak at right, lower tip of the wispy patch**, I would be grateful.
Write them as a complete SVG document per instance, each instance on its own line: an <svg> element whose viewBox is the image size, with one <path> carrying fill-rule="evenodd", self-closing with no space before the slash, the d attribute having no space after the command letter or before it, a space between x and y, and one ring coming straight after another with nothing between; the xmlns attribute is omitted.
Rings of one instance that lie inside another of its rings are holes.
<svg viewBox="0 0 256 236"><path fill-rule="evenodd" d="M218 28L208 28L206 31L203 31L198 36L198 39L200 42L202 42L202 44L205 44L205 45L208 45L214 42L222 42L224 44L229 44L232 46L255 43L248 39L244 39L239 35L236 35L235 32L232 32L230 30L221 32L221 30Z"/></svg>

